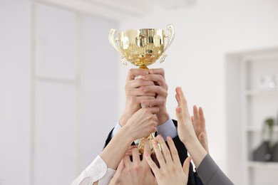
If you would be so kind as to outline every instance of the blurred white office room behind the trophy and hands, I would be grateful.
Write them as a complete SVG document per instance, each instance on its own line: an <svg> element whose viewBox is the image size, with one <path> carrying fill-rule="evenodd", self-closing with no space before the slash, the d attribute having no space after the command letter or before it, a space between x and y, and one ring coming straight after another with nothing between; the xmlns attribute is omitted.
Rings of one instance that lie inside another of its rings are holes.
<svg viewBox="0 0 278 185"><path fill-rule="evenodd" d="M168 56L149 66L165 69L170 117L180 86L191 112L203 107L210 154L227 176L276 184L278 165L252 163L252 150L264 119L277 121L277 86L249 103L259 95L242 96L242 82L278 82L277 10L275 0L0 0L0 184L71 184L103 149L136 68L120 63L110 28L167 33L170 23Z"/></svg>

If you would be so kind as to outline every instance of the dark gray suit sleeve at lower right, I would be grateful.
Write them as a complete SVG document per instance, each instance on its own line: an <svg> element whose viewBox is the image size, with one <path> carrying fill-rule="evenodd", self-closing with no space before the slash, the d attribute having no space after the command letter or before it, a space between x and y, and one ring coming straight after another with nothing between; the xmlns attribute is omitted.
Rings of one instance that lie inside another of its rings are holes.
<svg viewBox="0 0 278 185"><path fill-rule="evenodd" d="M204 185L233 184L209 154L205 156L196 171Z"/></svg>

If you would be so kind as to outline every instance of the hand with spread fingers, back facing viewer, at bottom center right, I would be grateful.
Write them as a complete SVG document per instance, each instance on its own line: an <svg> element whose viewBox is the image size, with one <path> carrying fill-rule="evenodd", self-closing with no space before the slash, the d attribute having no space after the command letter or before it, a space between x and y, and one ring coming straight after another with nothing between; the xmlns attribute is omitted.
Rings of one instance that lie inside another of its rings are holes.
<svg viewBox="0 0 278 185"><path fill-rule="evenodd" d="M187 184L191 157L187 157L187 159L185 159L182 167L172 138L167 137L167 140L170 150L165 144L163 137L160 135L158 135L156 140L153 142L160 168L158 168L155 162L153 162L153 159L150 157L150 153L146 152L144 157L147 159L150 168L153 170L155 178L158 181L158 185ZM160 144L162 151L160 151L158 144ZM148 146L148 142L145 142L145 146Z"/></svg>

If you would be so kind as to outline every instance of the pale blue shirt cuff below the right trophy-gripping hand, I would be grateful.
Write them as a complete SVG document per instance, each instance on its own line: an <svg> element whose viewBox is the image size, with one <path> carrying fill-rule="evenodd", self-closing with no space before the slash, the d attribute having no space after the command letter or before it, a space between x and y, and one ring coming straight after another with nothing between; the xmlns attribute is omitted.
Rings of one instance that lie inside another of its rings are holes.
<svg viewBox="0 0 278 185"><path fill-rule="evenodd" d="M177 137L177 129L170 117L165 123L163 123L163 125L158 126L158 134L161 134L165 141L168 136L171 138Z"/></svg>

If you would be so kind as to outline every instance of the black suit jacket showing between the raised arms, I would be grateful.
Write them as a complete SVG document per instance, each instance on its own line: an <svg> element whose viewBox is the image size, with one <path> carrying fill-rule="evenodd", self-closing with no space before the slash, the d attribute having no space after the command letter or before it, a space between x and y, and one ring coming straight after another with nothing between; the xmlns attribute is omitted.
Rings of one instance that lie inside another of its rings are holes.
<svg viewBox="0 0 278 185"><path fill-rule="evenodd" d="M177 127L177 121L173 120L173 122L174 122L175 127ZM112 132L113 132L113 129L109 132L103 148L105 148L107 146L107 144L110 142L110 140L112 139ZM180 141L180 138L178 136L173 138L173 142L175 143L175 147L177 148L177 152L180 157L180 163L183 164L183 162L185 162L185 159L188 157L187 149L186 149L185 145ZM166 144L168 145L167 142L166 142ZM134 145L134 142L133 142L133 145ZM191 163L190 163L190 171L188 174L187 185L202 185L202 181L200 181L197 174L193 171L193 167L192 167Z"/></svg>

